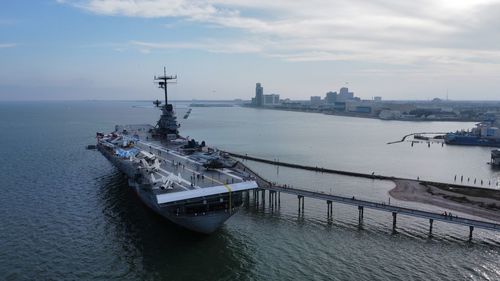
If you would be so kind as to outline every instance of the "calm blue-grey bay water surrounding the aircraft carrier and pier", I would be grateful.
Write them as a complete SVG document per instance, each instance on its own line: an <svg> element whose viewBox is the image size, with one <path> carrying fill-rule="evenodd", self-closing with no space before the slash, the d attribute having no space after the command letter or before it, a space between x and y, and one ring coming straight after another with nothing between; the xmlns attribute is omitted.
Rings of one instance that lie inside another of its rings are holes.
<svg viewBox="0 0 500 281"><path fill-rule="evenodd" d="M178 105L179 115L185 105ZM279 210L248 206L210 236L184 231L147 210L98 152L96 131L154 123L141 102L0 103L0 280L499 280L500 234L282 195ZM409 143L418 131L470 123L407 123L248 108L194 108L184 135L282 161L453 181L496 182L489 149ZM247 162L295 186L386 201L389 182L321 175ZM398 202L422 209L438 207Z"/></svg>

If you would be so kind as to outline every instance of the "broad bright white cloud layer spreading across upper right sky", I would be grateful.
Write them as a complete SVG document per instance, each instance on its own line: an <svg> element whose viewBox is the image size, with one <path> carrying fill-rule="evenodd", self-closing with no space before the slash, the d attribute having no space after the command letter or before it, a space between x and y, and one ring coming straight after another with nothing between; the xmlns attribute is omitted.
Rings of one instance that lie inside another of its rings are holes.
<svg viewBox="0 0 500 281"><path fill-rule="evenodd" d="M498 0L87 0L60 1L110 16L180 18L243 31L187 42L132 41L142 50L260 53L287 61L389 64L499 64L498 22L483 21ZM251 16L250 16L251 15ZM478 32L488 30L488 32ZM219 43L222 42L222 43ZM474 42L486 42L481 44Z"/></svg>

